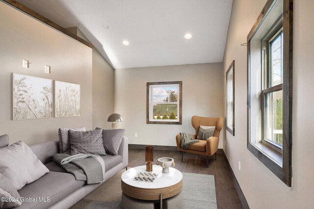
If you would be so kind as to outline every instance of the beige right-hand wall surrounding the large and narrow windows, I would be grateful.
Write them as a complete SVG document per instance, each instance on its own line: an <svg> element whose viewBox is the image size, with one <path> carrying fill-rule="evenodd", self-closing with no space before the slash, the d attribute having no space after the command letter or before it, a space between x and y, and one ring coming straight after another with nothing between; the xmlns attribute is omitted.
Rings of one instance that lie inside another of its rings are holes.
<svg viewBox="0 0 314 209"><path fill-rule="evenodd" d="M251 209L310 209L314 206L313 0L293 3L292 187L246 148L247 58L246 47L240 44L246 42L265 3L266 0L233 1L223 69L225 73L235 60L235 137L226 132L224 150Z"/></svg>

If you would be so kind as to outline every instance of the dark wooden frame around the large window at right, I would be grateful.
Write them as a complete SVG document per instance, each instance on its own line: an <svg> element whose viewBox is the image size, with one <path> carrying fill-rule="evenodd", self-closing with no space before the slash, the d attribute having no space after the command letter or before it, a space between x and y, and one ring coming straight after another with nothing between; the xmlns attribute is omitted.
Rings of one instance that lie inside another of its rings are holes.
<svg viewBox="0 0 314 209"><path fill-rule="evenodd" d="M261 14L247 36L247 149L250 150L266 167L268 167L287 186L292 179L292 52L293 52L293 0L283 0L283 149L282 164L274 161L256 145L251 143L251 74L250 41L271 11L277 0L267 0ZM262 107L262 106L261 106Z"/></svg>

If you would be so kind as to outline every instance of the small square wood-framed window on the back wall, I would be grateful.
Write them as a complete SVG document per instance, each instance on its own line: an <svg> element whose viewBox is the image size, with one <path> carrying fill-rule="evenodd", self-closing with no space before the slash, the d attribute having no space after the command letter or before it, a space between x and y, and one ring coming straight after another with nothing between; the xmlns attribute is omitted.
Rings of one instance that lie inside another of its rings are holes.
<svg viewBox="0 0 314 209"><path fill-rule="evenodd" d="M182 81L147 83L147 123L182 124Z"/></svg>

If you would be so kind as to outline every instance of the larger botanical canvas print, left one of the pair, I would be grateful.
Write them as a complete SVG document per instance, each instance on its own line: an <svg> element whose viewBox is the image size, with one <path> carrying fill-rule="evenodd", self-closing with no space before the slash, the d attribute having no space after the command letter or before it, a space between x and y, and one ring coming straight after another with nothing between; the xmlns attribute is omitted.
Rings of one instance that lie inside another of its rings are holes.
<svg viewBox="0 0 314 209"><path fill-rule="evenodd" d="M13 120L52 117L52 80L13 73Z"/></svg>

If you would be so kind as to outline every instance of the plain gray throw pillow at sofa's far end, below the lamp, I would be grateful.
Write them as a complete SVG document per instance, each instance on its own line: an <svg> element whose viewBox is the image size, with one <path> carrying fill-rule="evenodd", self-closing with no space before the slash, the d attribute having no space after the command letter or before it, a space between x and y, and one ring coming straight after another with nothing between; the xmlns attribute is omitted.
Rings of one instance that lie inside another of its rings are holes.
<svg viewBox="0 0 314 209"><path fill-rule="evenodd" d="M102 129L98 127L96 128L96 130L103 130L103 141L106 153L109 153L111 155L117 155L126 130Z"/></svg>

